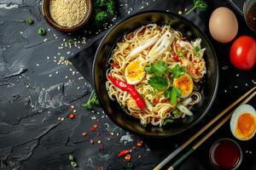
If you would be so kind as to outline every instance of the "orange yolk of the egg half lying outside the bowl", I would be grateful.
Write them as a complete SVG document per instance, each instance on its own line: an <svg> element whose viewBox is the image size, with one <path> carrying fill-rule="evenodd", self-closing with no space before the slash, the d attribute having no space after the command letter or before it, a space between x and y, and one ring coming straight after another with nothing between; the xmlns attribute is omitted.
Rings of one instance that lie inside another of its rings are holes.
<svg viewBox="0 0 256 170"><path fill-rule="evenodd" d="M250 138L255 131L254 117L245 113L238 118L236 134L241 138Z"/></svg>

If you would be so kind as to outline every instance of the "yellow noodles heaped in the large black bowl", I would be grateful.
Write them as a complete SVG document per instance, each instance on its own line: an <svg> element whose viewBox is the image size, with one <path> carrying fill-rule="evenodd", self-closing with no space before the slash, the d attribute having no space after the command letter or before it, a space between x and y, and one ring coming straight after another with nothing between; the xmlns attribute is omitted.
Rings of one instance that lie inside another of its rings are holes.
<svg viewBox="0 0 256 170"><path fill-rule="evenodd" d="M180 31L173 30L171 26L148 24L125 34L122 40L116 44L113 54L108 60L112 67L108 69L106 76L110 75L124 82L126 82L125 68L135 59L143 59L143 66L150 65L157 60L164 61L170 69L173 69L175 65L185 66L186 73L194 82L194 88L189 96L177 99L177 105L182 108L181 114L173 114L177 106L168 102L164 91L156 90L148 84L148 79L152 77L149 74L146 74L141 82L134 85L137 92L144 95L143 99L147 109L141 110L131 94L115 87L108 80L105 85L109 98L116 99L119 105L125 107L127 114L140 119L142 124L151 123L154 126L162 126L168 118L178 119L185 115L190 116L192 112L186 113L186 111L201 101L201 94L198 92L200 87L197 82L200 82L206 73L205 60L202 58L205 48L195 53L196 46L201 48L201 39L189 42ZM182 58L173 59L174 54L181 52ZM169 81L172 84L172 79ZM155 100L158 102L154 102Z"/></svg>

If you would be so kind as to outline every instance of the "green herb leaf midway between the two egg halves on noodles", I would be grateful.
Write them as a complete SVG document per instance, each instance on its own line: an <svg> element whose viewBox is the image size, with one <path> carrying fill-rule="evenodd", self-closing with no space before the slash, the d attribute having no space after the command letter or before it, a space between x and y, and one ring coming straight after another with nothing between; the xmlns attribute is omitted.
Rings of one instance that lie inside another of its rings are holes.
<svg viewBox="0 0 256 170"><path fill-rule="evenodd" d="M149 78L148 84L157 90L165 90L168 87L168 80L166 77L154 76Z"/></svg>

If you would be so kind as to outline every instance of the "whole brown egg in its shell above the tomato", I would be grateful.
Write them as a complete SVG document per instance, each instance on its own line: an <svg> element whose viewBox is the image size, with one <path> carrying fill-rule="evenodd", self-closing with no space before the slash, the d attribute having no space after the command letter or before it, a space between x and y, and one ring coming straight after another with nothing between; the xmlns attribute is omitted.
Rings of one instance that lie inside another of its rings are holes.
<svg viewBox="0 0 256 170"><path fill-rule="evenodd" d="M209 30L212 37L218 42L232 41L238 31L236 15L229 8L216 8L209 20Z"/></svg>

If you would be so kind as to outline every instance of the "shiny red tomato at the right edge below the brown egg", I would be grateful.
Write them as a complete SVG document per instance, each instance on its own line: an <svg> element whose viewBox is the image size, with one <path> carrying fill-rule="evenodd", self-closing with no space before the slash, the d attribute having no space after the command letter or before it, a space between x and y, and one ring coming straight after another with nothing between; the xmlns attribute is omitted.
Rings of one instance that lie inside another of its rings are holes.
<svg viewBox="0 0 256 170"><path fill-rule="evenodd" d="M252 37L241 36L230 48L232 65L241 70L249 70L256 64L256 41Z"/></svg>

